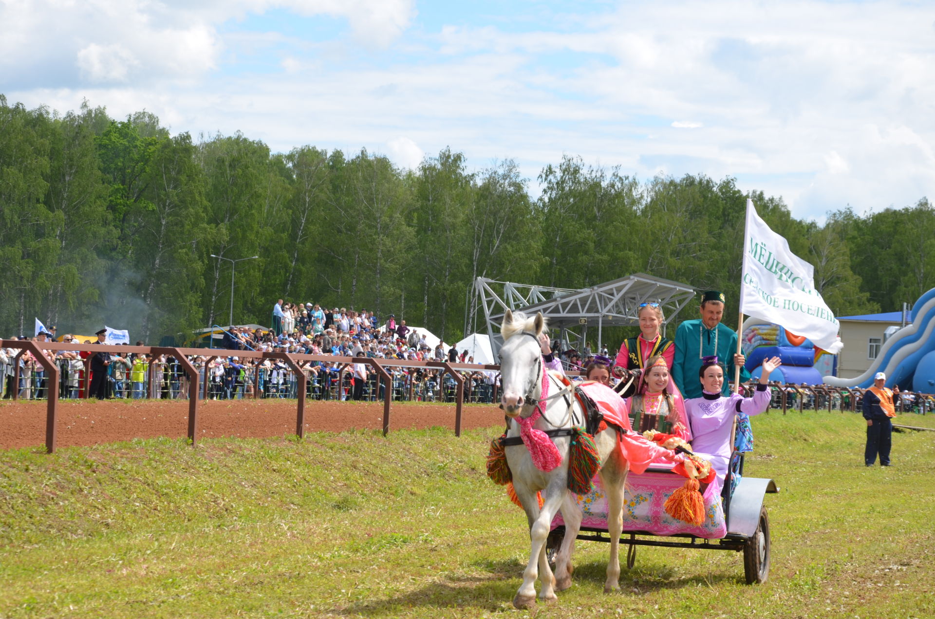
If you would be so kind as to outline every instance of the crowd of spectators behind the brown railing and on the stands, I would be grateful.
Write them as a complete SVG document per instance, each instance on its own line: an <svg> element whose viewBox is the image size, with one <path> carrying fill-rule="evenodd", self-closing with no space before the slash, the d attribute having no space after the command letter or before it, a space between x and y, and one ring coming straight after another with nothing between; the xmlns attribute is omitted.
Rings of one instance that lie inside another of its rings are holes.
<svg viewBox="0 0 935 619"><path fill-rule="evenodd" d="M295 397L297 383L295 374L284 363L272 359L240 358L237 352L283 352L342 357L379 359L405 359L414 361L450 361L473 363L468 351L457 351L439 342L432 346L424 332L410 328L406 321L396 321L390 314L384 321L367 310L346 308L323 309L319 304L284 303L281 299L273 308L273 321L268 329L247 328L235 325L223 330L224 349L228 353L196 356L190 360L207 381L208 396L215 399L251 397L256 392L262 397ZM54 338L51 333L41 332L36 341ZM10 339L27 339L24 337ZM79 339L71 335L62 338L65 343ZM91 344L90 339L80 343ZM144 345L137 341L137 345ZM447 349L447 350L446 350ZM9 398L18 390L22 398L44 398L50 385L42 365L26 352L19 359L19 378L16 378L15 357L17 349L0 349L0 392ZM552 342L553 355L563 367L570 371L581 371L597 365L611 366L611 359L604 347L593 353L590 346L576 350L565 342ZM59 396L65 398L84 397L86 359L93 353L78 351L46 351L47 357L60 370ZM215 358L211 358L215 357ZM314 362L309 369L308 395L313 398L377 399L383 396L381 382L377 380L367 363L347 366L338 362ZM422 400L447 399L453 394L455 382L439 369L426 367L390 366L393 379L393 396L396 399L410 397ZM159 355L153 359L145 354L110 353L107 366L106 396L112 397L163 397L187 396L187 382L178 359ZM478 370L464 374L467 391L474 401L489 402L496 393L499 379L495 371ZM797 385L785 385L786 406L821 409L827 406L827 396L797 389ZM773 407L780 408L783 391L773 390ZM849 409L852 406L848 394L833 396L834 408ZM899 410L918 410L922 396L912 392L901 392L896 402ZM859 396L857 396L859 398ZM798 400L802 401L799 403ZM856 402L859 404L859 402Z"/></svg>

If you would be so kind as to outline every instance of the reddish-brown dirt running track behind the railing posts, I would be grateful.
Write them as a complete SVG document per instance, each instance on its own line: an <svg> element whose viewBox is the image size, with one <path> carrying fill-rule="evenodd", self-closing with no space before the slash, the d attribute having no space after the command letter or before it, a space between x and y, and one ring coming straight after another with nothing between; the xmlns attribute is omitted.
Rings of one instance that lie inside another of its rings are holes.
<svg viewBox="0 0 935 619"><path fill-rule="evenodd" d="M307 432L339 432L383 427L382 402L307 401ZM503 421L495 406L466 405L462 429ZM454 431L453 404L394 402L390 432L439 425ZM198 406L198 436L281 437L295 434L295 400L218 400ZM183 438L188 434L187 400L64 401L58 405L56 447L95 445L116 440ZM0 404L0 449L44 446L45 402Z"/></svg>

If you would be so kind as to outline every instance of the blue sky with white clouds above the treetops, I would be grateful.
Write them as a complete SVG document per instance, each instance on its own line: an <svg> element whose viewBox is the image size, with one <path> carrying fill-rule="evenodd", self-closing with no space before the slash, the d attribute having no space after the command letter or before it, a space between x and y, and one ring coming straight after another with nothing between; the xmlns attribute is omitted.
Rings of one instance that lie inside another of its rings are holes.
<svg viewBox="0 0 935 619"><path fill-rule="evenodd" d="M734 177L824 220L935 199L935 2L0 0L0 93L273 151Z"/></svg>

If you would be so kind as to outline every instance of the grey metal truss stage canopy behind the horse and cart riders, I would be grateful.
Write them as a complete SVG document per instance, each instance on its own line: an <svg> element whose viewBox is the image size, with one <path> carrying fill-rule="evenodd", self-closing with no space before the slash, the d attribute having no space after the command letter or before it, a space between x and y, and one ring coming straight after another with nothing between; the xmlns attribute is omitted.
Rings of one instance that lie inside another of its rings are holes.
<svg viewBox="0 0 935 619"><path fill-rule="evenodd" d="M530 315L541 311L553 333L558 329L558 337L565 345L576 345L578 350L582 350L587 341L588 328L597 328L599 351L605 326L640 324L637 317L640 303L658 303L666 315L666 323L670 324L694 298L695 289L691 286L645 273L577 290L477 278L472 314L477 316L479 310L483 310L495 355L503 343L500 324L507 310Z"/></svg>

